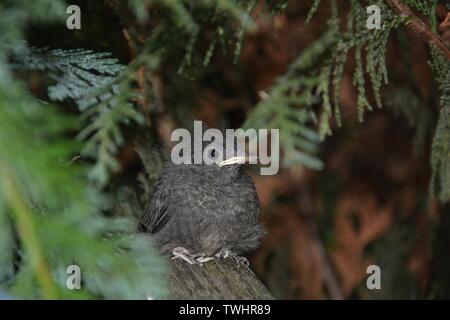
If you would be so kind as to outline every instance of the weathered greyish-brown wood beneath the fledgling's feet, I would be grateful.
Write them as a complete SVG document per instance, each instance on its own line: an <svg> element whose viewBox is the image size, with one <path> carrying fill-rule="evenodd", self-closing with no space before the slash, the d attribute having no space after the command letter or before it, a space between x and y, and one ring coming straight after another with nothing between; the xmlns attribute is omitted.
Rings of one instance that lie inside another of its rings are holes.
<svg viewBox="0 0 450 320"><path fill-rule="evenodd" d="M203 267L172 260L170 266L170 299L274 299L248 267L233 259L214 259Z"/></svg>

